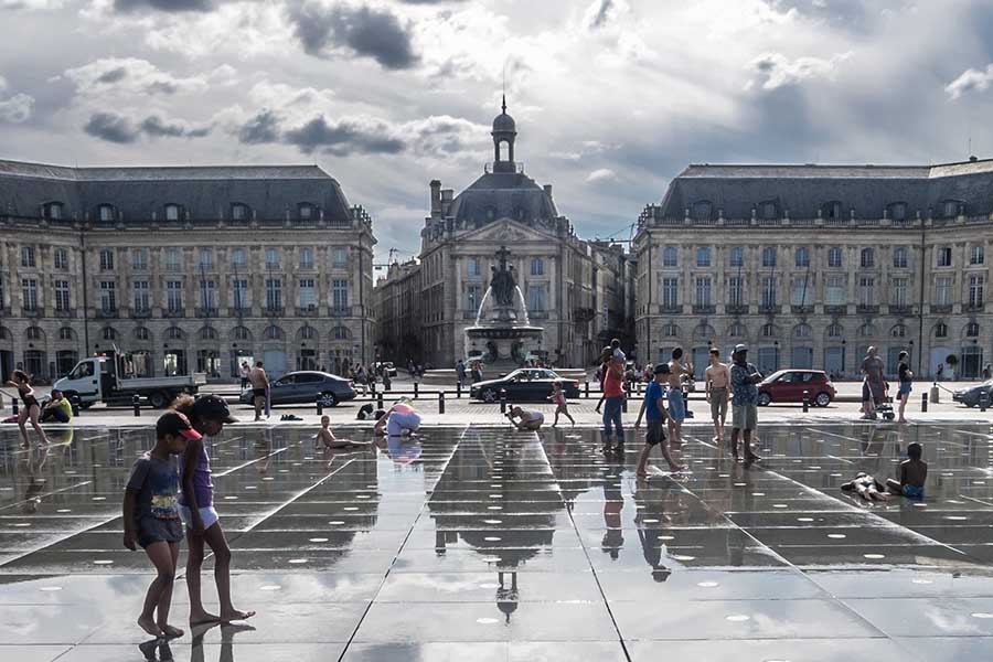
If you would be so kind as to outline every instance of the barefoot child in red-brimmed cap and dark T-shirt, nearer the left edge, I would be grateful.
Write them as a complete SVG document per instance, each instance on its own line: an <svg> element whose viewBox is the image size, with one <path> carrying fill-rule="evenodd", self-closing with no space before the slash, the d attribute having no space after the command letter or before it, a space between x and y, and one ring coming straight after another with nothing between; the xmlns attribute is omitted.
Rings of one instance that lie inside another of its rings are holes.
<svg viewBox="0 0 993 662"><path fill-rule="evenodd" d="M124 499L124 545L134 551L141 545L158 575L148 587L138 624L152 637L182 637L169 624L175 559L183 538L177 509L179 473L172 456L180 455L200 433L177 412L163 414L156 423L154 447L138 458L128 477ZM158 613L156 613L158 612Z"/></svg>

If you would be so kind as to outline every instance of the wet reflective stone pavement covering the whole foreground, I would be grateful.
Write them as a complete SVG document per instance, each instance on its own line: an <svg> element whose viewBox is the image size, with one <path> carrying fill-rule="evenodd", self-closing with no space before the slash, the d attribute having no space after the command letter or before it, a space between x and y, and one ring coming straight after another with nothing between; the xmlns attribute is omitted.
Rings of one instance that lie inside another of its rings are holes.
<svg viewBox="0 0 993 662"><path fill-rule="evenodd" d="M604 457L588 428L430 428L332 456L305 428L231 426L210 446L216 508L235 604L258 616L167 650L135 624L150 565L120 542L152 431L81 427L29 453L4 428L0 659L993 658L989 425L767 426L750 468L708 431L686 434L690 472L639 481L639 445ZM910 441L923 502L837 489L893 476ZM185 592L180 577L177 624Z"/></svg>

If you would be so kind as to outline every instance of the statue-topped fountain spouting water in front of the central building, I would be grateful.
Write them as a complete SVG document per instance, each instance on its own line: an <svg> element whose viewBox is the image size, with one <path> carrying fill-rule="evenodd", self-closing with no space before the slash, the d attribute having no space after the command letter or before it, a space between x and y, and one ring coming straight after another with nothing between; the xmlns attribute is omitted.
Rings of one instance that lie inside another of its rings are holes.
<svg viewBox="0 0 993 662"><path fill-rule="evenodd" d="M514 278L514 268L508 266L510 250L501 246L496 252L499 267L492 267L490 287L487 288L476 323L466 329L466 357L482 361L495 370L513 370L528 354L542 351L544 329L532 327L527 319L524 295Z"/></svg>

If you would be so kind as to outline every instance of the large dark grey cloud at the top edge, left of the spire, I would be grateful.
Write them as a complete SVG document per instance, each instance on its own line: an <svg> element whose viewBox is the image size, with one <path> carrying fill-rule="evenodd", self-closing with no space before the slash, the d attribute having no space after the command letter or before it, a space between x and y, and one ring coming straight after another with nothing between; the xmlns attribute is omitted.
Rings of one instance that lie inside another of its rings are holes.
<svg viewBox="0 0 993 662"><path fill-rule="evenodd" d="M418 62L408 28L389 10L303 1L287 11L308 55L329 57L348 51L388 70L410 68Z"/></svg>

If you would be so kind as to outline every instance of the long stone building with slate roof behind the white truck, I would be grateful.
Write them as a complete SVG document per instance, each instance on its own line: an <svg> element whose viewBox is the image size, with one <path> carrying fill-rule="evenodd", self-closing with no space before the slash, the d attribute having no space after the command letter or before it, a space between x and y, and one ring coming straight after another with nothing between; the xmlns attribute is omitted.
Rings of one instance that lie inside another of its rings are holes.
<svg viewBox="0 0 993 662"><path fill-rule="evenodd" d="M372 359L374 244L317 166L0 161L0 367L116 346L138 375L340 371Z"/></svg>

